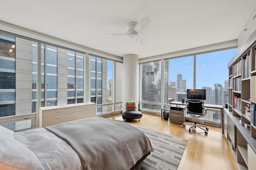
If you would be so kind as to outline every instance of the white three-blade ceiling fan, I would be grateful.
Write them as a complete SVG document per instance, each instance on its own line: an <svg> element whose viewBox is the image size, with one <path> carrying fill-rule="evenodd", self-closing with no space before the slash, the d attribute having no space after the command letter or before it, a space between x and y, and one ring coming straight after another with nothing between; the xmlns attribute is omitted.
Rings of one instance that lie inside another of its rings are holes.
<svg viewBox="0 0 256 170"><path fill-rule="evenodd" d="M122 36L122 35L128 35L129 38L135 39L140 44L145 44L146 41L138 35L142 29L144 29L148 24L150 20L148 17L143 18L138 23L137 22L129 22L128 23L128 31L127 33L117 33L117 34L108 34L108 36Z"/></svg>

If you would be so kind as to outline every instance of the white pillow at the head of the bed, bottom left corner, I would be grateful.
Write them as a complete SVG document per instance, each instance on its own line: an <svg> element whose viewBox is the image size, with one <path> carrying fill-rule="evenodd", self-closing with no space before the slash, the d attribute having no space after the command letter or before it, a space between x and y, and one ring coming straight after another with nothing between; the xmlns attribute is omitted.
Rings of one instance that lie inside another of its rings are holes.
<svg viewBox="0 0 256 170"><path fill-rule="evenodd" d="M0 126L0 169L43 170L40 160L20 141L13 137L14 132Z"/></svg>

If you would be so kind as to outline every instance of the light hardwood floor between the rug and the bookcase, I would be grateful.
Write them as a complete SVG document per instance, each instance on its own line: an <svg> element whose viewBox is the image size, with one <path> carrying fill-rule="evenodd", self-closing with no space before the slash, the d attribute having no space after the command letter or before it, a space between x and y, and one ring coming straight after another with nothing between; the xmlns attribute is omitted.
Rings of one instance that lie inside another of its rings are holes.
<svg viewBox="0 0 256 170"><path fill-rule="evenodd" d="M122 114L106 118L123 120ZM187 139L178 170L238 170L232 150L219 127L208 126L208 135L194 128L189 133L189 125L183 127L146 113L140 121L136 119L128 123Z"/></svg>

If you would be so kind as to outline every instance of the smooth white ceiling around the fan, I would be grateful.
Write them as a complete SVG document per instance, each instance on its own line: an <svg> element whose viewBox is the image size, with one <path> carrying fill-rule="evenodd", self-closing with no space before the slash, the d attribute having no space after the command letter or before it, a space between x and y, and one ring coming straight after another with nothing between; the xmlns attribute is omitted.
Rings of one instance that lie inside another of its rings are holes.
<svg viewBox="0 0 256 170"><path fill-rule="evenodd" d="M237 39L255 0L0 0L0 20L122 57L162 55ZM130 21L150 19L139 35ZM0 27L1 28L1 27Z"/></svg>

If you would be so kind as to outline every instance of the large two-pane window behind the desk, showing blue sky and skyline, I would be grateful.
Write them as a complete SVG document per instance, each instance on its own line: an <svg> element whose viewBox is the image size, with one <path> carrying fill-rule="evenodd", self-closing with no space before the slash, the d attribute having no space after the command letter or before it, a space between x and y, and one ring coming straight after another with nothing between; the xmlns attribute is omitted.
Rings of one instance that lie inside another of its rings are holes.
<svg viewBox="0 0 256 170"><path fill-rule="evenodd" d="M170 59L170 102L186 99L187 89L206 89L205 104L224 106L228 102L227 64L236 53L237 48ZM202 119L220 122L220 111L208 109Z"/></svg>

